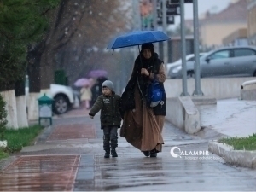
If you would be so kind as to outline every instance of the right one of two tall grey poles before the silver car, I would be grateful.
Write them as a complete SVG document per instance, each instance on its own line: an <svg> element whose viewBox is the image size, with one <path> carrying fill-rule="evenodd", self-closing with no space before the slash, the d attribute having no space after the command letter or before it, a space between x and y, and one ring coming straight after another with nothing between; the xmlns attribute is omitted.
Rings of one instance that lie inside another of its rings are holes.
<svg viewBox="0 0 256 192"><path fill-rule="evenodd" d="M201 91L201 72L199 61L199 26L198 26L198 1L193 0L193 24L194 24L194 53L195 53L195 90L193 96L203 96Z"/></svg>

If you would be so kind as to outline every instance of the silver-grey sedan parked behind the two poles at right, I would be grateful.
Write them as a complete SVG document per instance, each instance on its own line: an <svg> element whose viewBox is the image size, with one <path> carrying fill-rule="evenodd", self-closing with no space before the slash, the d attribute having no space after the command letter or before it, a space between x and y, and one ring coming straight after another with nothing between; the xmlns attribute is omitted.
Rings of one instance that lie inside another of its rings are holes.
<svg viewBox="0 0 256 192"><path fill-rule="evenodd" d="M194 77L195 61L187 62L187 74ZM225 47L202 55L201 78L256 76L256 47ZM172 68L171 79L182 78L182 65Z"/></svg>

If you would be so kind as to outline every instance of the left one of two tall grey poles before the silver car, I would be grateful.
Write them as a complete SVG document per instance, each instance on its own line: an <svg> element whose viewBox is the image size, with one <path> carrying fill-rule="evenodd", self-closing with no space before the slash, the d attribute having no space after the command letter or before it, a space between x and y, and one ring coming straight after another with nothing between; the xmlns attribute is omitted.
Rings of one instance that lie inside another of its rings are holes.
<svg viewBox="0 0 256 192"><path fill-rule="evenodd" d="M186 63L186 37L184 25L184 0L180 0L180 26L181 26L181 49L182 49L182 62L183 62L183 92L181 96L189 96L187 84L187 63Z"/></svg>

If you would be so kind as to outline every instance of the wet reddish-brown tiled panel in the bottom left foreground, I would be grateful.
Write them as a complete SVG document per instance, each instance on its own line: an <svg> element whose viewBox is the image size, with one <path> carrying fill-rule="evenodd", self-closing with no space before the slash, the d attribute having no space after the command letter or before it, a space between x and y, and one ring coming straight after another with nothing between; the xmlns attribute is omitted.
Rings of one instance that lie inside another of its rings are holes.
<svg viewBox="0 0 256 192"><path fill-rule="evenodd" d="M79 155L21 156L0 172L1 191L72 191Z"/></svg>

